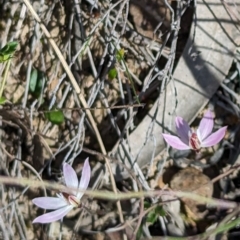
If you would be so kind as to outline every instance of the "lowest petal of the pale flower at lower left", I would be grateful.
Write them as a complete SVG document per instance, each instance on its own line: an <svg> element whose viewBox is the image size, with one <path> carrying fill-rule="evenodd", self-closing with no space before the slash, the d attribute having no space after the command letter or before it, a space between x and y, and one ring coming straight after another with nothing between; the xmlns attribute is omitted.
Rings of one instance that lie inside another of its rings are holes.
<svg viewBox="0 0 240 240"><path fill-rule="evenodd" d="M50 223L62 219L69 211L73 209L73 206L66 206L56 211L43 214L33 220L33 223Z"/></svg>

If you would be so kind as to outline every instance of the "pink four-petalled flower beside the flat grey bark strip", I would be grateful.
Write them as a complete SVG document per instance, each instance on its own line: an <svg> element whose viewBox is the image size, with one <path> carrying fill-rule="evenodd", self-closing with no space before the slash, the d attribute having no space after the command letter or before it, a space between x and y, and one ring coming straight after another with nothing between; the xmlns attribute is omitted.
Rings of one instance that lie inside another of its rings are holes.
<svg viewBox="0 0 240 240"><path fill-rule="evenodd" d="M199 152L203 147L212 147L219 143L227 129L225 126L212 133L213 113L209 110L204 114L196 131L191 130L188 123L181 117L176 117L175 124L179 137L162 134L165 141L173 148L179 150L193 149L196 152Z"/></svg>

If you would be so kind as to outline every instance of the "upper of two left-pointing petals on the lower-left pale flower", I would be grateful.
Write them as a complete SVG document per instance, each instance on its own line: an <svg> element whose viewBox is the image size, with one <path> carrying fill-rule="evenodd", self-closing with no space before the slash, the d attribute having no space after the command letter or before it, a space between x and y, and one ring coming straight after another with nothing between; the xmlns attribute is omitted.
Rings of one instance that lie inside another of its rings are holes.
<svg viewBox="0 0 240 240"><path fill-rule="evenodd" d="M55 198L55 197L34 198L32 202L38 207L44 208L44 209L58 209L68 205L63 198Z"/></svg>

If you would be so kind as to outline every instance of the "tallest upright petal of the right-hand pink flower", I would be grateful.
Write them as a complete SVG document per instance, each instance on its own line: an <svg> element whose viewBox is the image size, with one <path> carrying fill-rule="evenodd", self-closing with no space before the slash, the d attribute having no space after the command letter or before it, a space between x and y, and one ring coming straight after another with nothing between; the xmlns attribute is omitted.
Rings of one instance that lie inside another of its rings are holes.
<svg viewBox="0 0 240 240"><path fill-rule="evenodd" d="M211 134L213 124L213 113L207 110L197 129L197 135L201 142Z"/></svg>

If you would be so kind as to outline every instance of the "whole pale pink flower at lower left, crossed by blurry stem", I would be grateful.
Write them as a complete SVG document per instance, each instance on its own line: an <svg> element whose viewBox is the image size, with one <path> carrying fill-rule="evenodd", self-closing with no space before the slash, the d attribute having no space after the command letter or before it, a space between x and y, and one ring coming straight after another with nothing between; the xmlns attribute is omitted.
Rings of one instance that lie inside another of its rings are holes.
<svg viewBox="0 0 240 240"><path fill-rule="evenodd" d="M81 207L80 200L84 194L83 191L88 187L91 177L91 168L88 158L84 162L80 182L78 181L77 174L74 169L67 163L63 164L63 176L67 187L79 189L81 192L69 190L69 192L57 194L57 197L34 198L32 202L38 207L54 211L35 218L33 223L54 222L62 219L74 207Z"/></svg>

